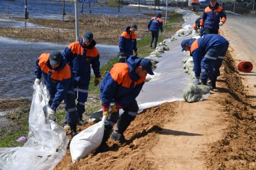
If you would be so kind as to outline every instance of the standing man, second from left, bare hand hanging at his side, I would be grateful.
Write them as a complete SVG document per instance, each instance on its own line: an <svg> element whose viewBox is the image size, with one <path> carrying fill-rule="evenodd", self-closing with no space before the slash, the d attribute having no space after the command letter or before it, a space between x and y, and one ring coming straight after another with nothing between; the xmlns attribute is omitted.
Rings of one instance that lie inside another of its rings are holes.
<svg viewBox="0 0 256 170"><path fill-rule="evenodd" d="M84 125L82 114L85 112L85 102L88 97L88 87L91 78L91 67L95 75L94 86L100 82L100 54L95 47L96 41L93 40L93 33L87 31L79 41L72 42L64 50L64 56L72 67L72 77L74 81L75 96L78 101L78 125Z"/></svg>

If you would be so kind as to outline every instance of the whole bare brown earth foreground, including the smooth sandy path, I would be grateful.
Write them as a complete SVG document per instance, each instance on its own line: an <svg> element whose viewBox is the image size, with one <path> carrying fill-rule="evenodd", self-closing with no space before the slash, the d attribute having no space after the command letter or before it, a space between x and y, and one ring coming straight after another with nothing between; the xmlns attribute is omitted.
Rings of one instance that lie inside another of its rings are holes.
<svg viewBox="0 0 256 170"><path fill-rule="evenodd" d="M246 97L229 53L221 72L218 92L213 92L209 99L194 104L172 102L145 110L124 133L128 139L126 144L109 139L109 151L89 154L77 163L71 162L68 150L55 169L255 169L255 103ZM208 118L198 120L197 114ZM215 124L221 128L217 133L207 125L208 120L218 121ZM179 128L172 131L178 134L161 136L162 129L174 129L174 121L179 122ZM189 127L183 130L184 126ZM184 140L176 144L175 140L180 138Z"/></svg>

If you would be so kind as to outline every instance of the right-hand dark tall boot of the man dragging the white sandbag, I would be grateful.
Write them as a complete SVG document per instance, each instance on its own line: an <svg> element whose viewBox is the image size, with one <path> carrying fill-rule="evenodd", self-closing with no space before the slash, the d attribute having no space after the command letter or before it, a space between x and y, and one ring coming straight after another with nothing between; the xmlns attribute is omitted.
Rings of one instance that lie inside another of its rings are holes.
<svg viewBox="0 0 256 170"><path fill-rule="evenodd" d="M123 133L128 128L128 126L130 125L130 122L132 122L132 121L125 120L121 117L117 122L117 127L111 133L110 138L113 139L114 141L120 142L121 144L126 142L126 139L124 138Z"/></svg>

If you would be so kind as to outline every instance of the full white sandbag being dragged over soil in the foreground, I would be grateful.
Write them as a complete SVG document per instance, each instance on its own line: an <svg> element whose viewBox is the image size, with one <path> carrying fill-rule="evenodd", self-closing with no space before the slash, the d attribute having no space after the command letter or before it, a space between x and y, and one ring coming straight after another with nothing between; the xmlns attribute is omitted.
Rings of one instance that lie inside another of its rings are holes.
<svg viewBox="0 0 256 170"><path fill-rule="evenodd" d="M93 152L100 146L104 134L105 120L106 116L103 116L102 121L90 126L78 133L78 135L74 136L70 142L70 154L73 163L86 157L89 153Z"/></svg>

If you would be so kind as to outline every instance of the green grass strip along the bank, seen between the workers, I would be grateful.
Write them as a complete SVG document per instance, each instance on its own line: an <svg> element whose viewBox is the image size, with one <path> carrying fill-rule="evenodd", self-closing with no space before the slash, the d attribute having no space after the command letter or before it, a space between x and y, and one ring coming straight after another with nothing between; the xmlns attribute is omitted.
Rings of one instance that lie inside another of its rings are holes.
<svg viewBox="0 0 256 170"><path fill-rule="evenodd" d="M167 21L166 28L164 26L164 30L166 32L163 34L159 34L158 42L162 42L166 38L170 38L171 35L175 31L175 26L173 23L183 23L182 15L177 13L170 13L169 19ZM175 24L175 25L176 25ZM151 40L151 33L145 35L144 38L138 41L138 56L139 57L146 57L148 56L154 49L150 48L150 40ZM106 74L106 72L117 63L119 57L115 57L109 62L100 68L100 72L102 74L102 78ZM91 75L91 81L89 85L89 93L94 94L97 98L99 98L99 86L94 86L94 75ZM90 107L86 108L87 113L92 113L93 111L99 110L101 104L96 102L95 104L90 105ZM8 114L8 119L13 120L14 126L17 126L14 130L0 130L0 135L3 138L0 141L0 147L16 147L21 146L23 143L16 142L16 139L20 136L27 136L28 135L28 115L29 115L29 108L30 106L20 107L14 110L11 114ZM62 126L62 120L64 119L66 111L64 108L58 108L55 114L56 122Z"/></svg>

